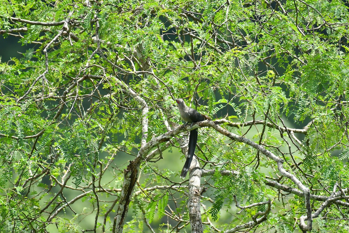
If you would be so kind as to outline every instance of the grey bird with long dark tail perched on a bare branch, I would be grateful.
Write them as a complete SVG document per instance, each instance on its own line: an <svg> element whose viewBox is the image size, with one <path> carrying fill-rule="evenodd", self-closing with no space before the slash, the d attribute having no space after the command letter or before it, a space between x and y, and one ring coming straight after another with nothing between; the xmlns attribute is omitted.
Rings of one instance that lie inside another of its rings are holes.
<svg viewBox="0 0 349 233"><path fill-rule="evenodd" d="M194 122L200 122L209 119L208 116L203 115L195 109L188 107L183 99L176 99L176 102L178 105L180 117L183 121L186 122L186 124L191 123L192 126ZM188 156L183 166L182 172L180 173L180 176L182 178L185 178L188 173L190 163L192 162L194 156L197 141L198 129L191 130L189 134Z"/></svg>

